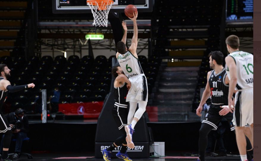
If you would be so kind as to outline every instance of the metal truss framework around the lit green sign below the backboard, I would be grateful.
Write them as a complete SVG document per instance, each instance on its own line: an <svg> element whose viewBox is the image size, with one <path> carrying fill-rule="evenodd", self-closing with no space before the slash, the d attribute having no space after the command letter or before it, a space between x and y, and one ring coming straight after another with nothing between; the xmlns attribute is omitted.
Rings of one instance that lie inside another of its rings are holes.
<svg viewBox="0 0 261 161"><path fill-rule="evenodd" d="M139 34L148 33L148 29L139 29ZM106 34L108 39L103 40L91 40L91 45L93 50L110 50L116 51L115 49L115 42L113 39L112 29L100 29L100 30L93 30L93 29L41 29L39 34L54 34L55 38L39 38L38 42L40 47L40 52L53 52L54 51L61 51L64 52L65 50L73 51L74 53L82 54L82 50L89 49L87 40L84 39L85 34L87 33L101 33ZM129 30L128 34L132 35L133 30ZM59 36L68 35L69 37L72 36L74 38L59 38ZM76 35L76 36L75 36ZM76 38L77 35L79 38ZM148 49L149 45L149 38L140 38L138 39L138 48L140 50L137 54L139 54L144 49ZM131 44L131 39L127 39L128 44ZM40 55L39 55L40 56Z"/></svg>

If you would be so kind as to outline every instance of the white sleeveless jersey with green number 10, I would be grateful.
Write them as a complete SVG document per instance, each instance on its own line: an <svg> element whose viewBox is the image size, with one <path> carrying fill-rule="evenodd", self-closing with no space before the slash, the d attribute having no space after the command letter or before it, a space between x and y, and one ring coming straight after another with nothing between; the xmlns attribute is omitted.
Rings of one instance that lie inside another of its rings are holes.
<svg viewBox="0 0 261 161"><path fill-rule="evenodd" d="M235 51L229 54L237 66L237 85L236 90L253 88L254 86L254 56L248 52ZM226 73L230 79L229 68L226 65Z"/></svg>

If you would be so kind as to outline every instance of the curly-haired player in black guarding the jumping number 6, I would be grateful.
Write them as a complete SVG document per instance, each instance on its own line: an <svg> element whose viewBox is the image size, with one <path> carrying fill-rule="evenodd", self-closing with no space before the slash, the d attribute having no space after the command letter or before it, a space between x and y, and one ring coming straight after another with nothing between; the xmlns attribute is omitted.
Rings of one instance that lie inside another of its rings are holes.
<svg viewBox="0 0 261 161"><path fill-rule="evenodd" d="M126 102L126 96L128 90L131 87L131 82L125 76L121 69L121 66L115 66L112 68L112 75L115 77L114 81L114 98L115 104L112 108L113 118L121 130L122 136L117 138L111 146L102 151L103 159L105 161L111 161L111 152L115 147L121 146L121 150L116 154L118 158L124 159L125 161L132 161L127 155L127 142L126 142L126 132L124 126L127 125L128 117L128 102ZM133 143L132 143L133 144Z"/></svg>

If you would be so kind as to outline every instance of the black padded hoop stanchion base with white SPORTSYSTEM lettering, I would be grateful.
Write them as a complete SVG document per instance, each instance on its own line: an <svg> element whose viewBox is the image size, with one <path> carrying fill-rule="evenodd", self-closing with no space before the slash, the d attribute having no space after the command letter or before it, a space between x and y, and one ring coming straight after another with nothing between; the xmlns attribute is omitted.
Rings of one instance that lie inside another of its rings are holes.
<svg viewBox="0 0 261 161"><path fill-rule="evenodd" d="M116 66L115 58L112 59L112 66ZM95 157L102 158L101 151L110 146L115 139L122 135L118 130L115 120L112 116L112 108L114 106L114 78L111 82L110 93L107 99L104 100L104 105L98 118L96 136L95 136ZM138 107L137 107L138 108ZM135 148L127 149L130 158L149 158L149 132L146 119L142 116L135 126L135 133L133 134L133 142ZM120 150L120 146L112 151L112 157Z"/></svg>

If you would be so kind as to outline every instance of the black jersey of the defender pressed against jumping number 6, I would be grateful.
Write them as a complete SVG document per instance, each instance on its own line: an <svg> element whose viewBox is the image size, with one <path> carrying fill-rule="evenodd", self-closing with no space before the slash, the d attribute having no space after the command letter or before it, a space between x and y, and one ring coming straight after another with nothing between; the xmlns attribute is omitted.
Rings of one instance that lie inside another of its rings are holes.
<svg viewBox="0 0 261 161"><path fill-rule="evenodd" d="M124 84L121 87L114 87L114 97L115 97L115 102L127 105L128 103L126 102L126 96L128 94L128 88L127 88L127 83L124 82Z"/></svg>

